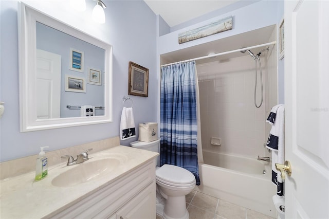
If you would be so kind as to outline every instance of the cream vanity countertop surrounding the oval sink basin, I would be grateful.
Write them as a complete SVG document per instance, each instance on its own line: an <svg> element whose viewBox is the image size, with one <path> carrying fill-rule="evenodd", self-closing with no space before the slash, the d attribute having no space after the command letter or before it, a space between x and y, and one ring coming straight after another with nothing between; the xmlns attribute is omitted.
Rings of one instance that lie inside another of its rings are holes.
<svg viewBox="0 0 329 219"><path fill-rule="evenodd" d="M124 155L124 164L111 171L111 174L103 174L97 179L75 186L56 187L51 184L52 179L60 173L77 166L67 167L66 161L48 167L48 176L40 181L34 181L35 172L1 180L0 217L42 218L54 212L61 212L158 156L155 152L120 145L90 154L89 158L105 153Z"/></svg>

